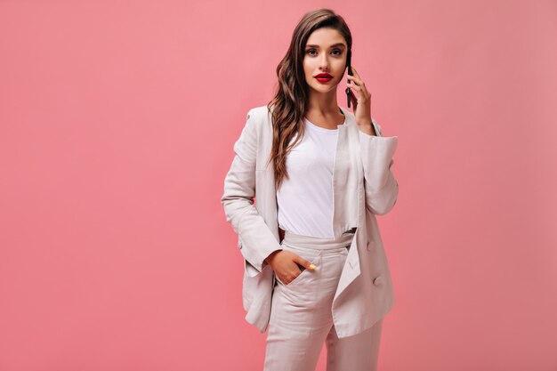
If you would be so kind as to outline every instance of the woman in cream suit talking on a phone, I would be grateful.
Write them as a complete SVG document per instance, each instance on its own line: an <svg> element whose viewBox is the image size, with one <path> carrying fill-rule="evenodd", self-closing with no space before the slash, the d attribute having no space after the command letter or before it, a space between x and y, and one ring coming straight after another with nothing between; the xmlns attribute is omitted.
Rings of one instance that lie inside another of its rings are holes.
<svg viewBox="0 0 557 371"><path fill-rule="evenodd" d="M323 343L327 371L375 370L394 305L375 214L398 197L398 137L382 136L356 69L346 85L354 113L338 106L350 60L343 18L305 14L278 93L249 110L234 144L221 202L245 258L246 320L269 328L265 371L315 369Z"/></svg>

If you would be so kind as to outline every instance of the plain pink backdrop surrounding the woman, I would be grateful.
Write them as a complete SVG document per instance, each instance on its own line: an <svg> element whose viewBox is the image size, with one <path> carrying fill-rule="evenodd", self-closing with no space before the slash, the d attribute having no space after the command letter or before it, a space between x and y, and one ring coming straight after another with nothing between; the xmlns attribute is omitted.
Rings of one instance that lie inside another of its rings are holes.
<svg viewBox="0 0 557 371"><path fill-rule="evenodd" d="M1 2L0 370L262 369L219 199L320 6L400 139L380 369L557 369L557 2L407 0Z"/></svg>

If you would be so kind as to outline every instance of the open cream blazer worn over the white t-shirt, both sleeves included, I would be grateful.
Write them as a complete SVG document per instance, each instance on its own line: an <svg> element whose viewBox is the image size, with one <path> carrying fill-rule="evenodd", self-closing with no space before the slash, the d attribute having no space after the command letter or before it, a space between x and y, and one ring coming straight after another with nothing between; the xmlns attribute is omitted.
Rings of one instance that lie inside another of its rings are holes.
<svg viewBox="0 0 557 371"><path fill-rule="evenodd" d="M383 137L372 118L375 135L361 137L353 113L338 125L333 172L335 238L353 234L333 301L340 338L372 327L394 306L392 278L375 215L388 213L397 201L399 184L392 173L398 136ZM246 125L234 144L236 156L224 179L221 198L226 221L238 234L244 257L242 287L246 321L263 333L270 319L274 270L264 259L280 249L277 193L271 164L272 124L267 106L247 112Z"/></svg>

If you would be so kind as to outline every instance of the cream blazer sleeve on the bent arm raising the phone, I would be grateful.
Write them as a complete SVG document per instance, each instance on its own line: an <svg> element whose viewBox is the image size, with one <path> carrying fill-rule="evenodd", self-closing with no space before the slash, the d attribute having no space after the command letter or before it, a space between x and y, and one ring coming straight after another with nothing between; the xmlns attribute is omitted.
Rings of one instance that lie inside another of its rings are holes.
<svg viewBox="0 0 557 371"><path fill-rule="evenodd" d="M384 137L381 125L377 124L373 117L371 120L377 135L369 135L359 130L366 208L373 214L383 215L391 211L399 196L399 182L391 169L399 137Z"/></svg>

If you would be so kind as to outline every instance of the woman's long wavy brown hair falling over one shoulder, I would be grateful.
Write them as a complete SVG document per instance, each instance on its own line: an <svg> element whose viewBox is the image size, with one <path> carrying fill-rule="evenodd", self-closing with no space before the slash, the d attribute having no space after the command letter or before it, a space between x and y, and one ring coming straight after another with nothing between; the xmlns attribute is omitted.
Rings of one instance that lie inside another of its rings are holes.
<svg viewBox="0 0 557 371"><path fill-rule="evenodd" d="M347 60L351 57L352 36L343 17L327 8L316 9L303 15L292 34L287 54L278 63L277 93L267 104L273 126L272 148L267 165L273 163L277 190L283 178L286 176L288 179L287 155L303 137L303 118L309 102L309 86L303 72L303 57L308 38L318 28L333 28L339 31L348 47ZM296 134L297 138L290 143ZM287 146L288 143L290 144Z"/></svg>

